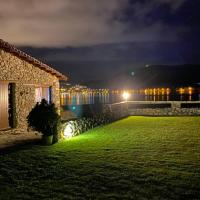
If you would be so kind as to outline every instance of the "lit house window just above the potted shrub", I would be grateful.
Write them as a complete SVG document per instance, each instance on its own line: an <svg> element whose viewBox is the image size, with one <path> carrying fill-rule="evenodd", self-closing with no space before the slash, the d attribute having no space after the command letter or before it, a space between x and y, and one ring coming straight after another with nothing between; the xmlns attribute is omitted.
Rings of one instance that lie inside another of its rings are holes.
<svg viewBox="0 0 200 200"><path fill-rule="evenodd" d="M52 102L52 87L35 88L35 101L41 102L42 99L46 99L48 103Z"/></svg>

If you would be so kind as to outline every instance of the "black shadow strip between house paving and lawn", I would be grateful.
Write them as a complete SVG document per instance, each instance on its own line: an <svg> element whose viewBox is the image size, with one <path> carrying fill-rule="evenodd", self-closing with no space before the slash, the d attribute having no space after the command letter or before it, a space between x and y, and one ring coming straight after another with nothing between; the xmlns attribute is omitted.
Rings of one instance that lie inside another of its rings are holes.
<svg viewBox="0 0 200 200"><path fill-rule="evenodd" d="M19 141L10 146L0 147L0 155L5 155L17 152L24 149L29 149L31 146L41 145L41 139L30 139L26 141Z"/></svg>

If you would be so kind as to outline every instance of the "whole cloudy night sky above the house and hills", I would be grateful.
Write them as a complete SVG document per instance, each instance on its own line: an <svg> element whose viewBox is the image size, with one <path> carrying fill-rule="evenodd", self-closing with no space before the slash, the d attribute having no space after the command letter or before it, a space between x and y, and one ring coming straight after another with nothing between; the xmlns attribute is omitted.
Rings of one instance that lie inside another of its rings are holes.
<svg viewBox="0 0 200 200"><path fill-rule="evenodd" d="M200 64L199 0L0 0L0 27L72 83Z"/></svg>

